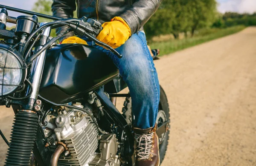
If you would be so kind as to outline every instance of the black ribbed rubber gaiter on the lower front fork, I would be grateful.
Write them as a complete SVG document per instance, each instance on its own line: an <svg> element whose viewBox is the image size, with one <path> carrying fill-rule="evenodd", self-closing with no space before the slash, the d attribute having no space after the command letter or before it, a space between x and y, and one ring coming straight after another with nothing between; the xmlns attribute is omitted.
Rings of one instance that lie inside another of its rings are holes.
<svg viewBox="0 0 256 166"><path fill-rule="evenodd" d="M20 111L15 115L5 166L29 166L35 144L38 116Z"/></svg>

